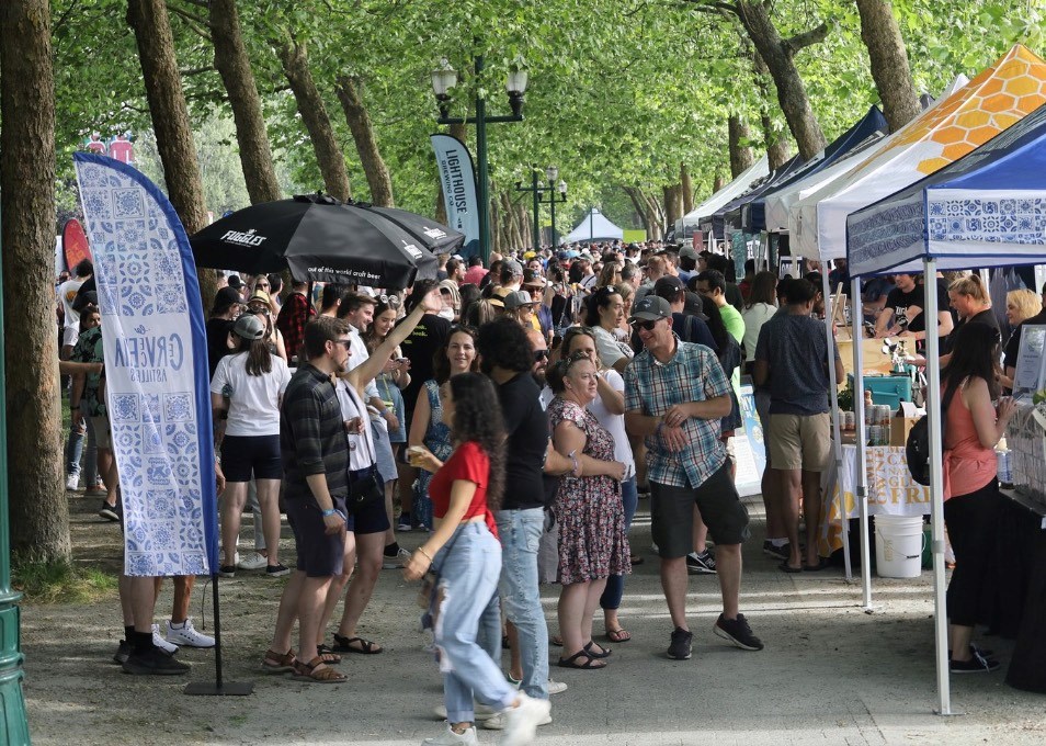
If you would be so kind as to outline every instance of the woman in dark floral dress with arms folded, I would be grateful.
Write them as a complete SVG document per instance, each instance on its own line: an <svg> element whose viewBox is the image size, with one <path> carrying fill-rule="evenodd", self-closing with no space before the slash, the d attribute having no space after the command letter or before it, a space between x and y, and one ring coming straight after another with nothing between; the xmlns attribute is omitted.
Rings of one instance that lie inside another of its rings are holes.
<svg viewBox="0 0 1046 746"><path fill-rule="evenodd" d="M592 617L610 575L630 572L614 439L585 407L595 399L599 374L591 359L571 355L556 364L548 406L556 450L577 463L580 476L562 477L559 520L559 633L564 668L605 668L611 651L592 641ZM587 456L582 459L582 456Z"/></svg>

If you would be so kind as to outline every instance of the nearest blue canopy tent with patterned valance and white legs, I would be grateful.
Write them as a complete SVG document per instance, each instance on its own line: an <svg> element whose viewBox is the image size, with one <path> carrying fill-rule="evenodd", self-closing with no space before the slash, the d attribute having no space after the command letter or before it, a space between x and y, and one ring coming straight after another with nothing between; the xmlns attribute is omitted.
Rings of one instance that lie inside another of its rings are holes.
<svg viewBox="0 0 1046 746"><path fill-rule="evenodd" d="M1009 267L1046 256L1046 105L964 158L846 217L846 258L857 298L860 278L921 270ZM925 284L928 308L936 283ZM934 625L941 714L951 713L944 568L941 365L936 335L926 337ZM860 365L855 387L862 385ZM859 411L859 420L863 412ZM859 432L863 422L857 423Z"/></svg>

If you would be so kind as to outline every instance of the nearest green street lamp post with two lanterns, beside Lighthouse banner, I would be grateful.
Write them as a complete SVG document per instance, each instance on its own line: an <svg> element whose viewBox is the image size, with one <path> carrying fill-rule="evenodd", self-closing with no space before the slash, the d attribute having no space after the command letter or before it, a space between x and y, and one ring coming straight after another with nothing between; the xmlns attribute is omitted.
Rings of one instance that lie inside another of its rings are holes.
<svg viewBox="0 0 1046 746"><path fill-rule="evenodd" d="M477 55L475 58L476 80L479 81L484 71L484 57ZM479 161L479 174L477 178L477 192L479 202L479 252L484 262L490 260L490 183L487 165L487 125L499 122L522 122L523 121L523 92L526 90L526 70L516 69L509 72L509 79L505 82L505 92L509 94L509 105L512 108L512 114L500 116L487 116L487 102L480 92L482 89L476 89L476 115L475 116L450 116L448 103L451 95L448 91L457 84L457 72L451 67L451 64L444 58L440 67L432 71L432 92L435 94L440 106L440 117L436 123L448 124L475 124L476 125L476 160Z"/></svg>

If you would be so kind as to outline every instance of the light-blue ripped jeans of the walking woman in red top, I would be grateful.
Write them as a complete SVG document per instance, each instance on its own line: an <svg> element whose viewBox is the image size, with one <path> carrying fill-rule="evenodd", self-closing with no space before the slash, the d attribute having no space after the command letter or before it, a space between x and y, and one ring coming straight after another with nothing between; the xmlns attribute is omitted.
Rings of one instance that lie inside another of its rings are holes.
<svg viewBox="0 0 1046 746"><path fill-rule="evenodd" d="M435 626L443 701L447 722L471 723L474 698L501 710L516 697L496 663L501 658L501 546L485 523L463 523L446 546L435 557L443 592Z"/></svg>

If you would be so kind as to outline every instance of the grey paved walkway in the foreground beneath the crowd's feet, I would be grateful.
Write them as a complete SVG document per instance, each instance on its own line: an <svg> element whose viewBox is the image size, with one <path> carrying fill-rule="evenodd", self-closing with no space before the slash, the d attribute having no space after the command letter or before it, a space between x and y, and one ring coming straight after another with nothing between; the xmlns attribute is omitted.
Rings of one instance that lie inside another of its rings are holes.
<svg viewBox="0 0 1046 746"><path fill-rule="evenodd" d="M613 645L605 670L553 667L553 677L569 690L553 698L554 723L539 728L538 743L1041 744L1046 738L1046 697L1003 683L1012 649L1007 641L984 641L1003 662L1002 670L953 678L953 709L964 716L931 713L936 697L929 573L911 581L875 579L878 610L865 614L859 608L860 585L848 584L841 570L786 575L776 569L776 562L759 551L758 506L752 506L754 535L746 547L741 608L766 648L739 651L712 634L718 584L697 576L691 578L690 596L694 657L667 659L671 625L649 551L646 510L641 501L632 532L646 562L627 580L621 617L633 640ZM407 546L419 539L417 533L401 536ZM110 623L117 619L114 608L87 610L89 625L72 613L60 619L46 609L26 609L23 647L35 743L413 746L440 731L431 715L441 702L440 678L422 651L414 586L398 572L383 573L360 633L387 649L346 659L342 669L350 682L338 687L258 671L278 587L280 581L257 574L223 581L226 676L254 681L250 698L190 698L181 693L184 680L120 674L105 663L116 638ZM545 588L543 596L554 624L557 588ZM168 603L166 595L159 608ZM197 626L198 603L200 591L193 602ZM602 631L599 619L596 631ZM181 655L194 664L192 680L213 680L211 653ZM552 655L555 660L558 648ZM480 743L497 739L497 733L480 731Z"/></svg>

